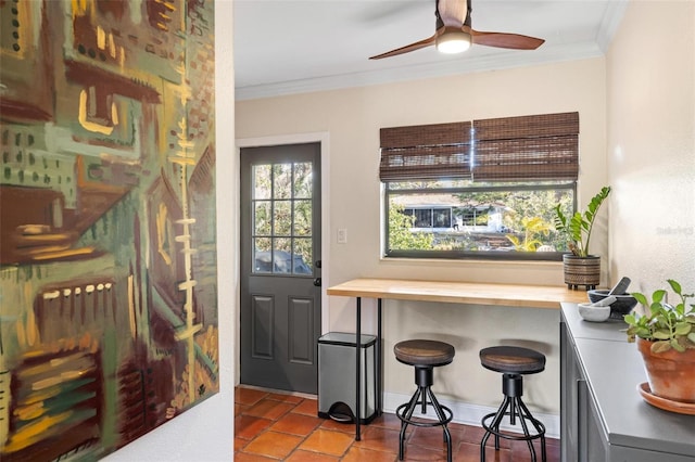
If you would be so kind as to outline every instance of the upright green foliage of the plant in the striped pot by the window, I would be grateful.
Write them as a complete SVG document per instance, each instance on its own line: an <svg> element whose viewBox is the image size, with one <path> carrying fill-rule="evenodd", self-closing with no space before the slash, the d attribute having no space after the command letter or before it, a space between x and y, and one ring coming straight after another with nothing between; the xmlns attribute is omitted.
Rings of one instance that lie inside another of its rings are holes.
<svg viewBox="0 0 695 462"><path fill-rule="evenodd" d="M574 211L571 216L566 216L561 210L561 205L557 204L555 210L555 230L564 234L567 239L569 251L578 256L589 255L589 241L594 227L594 220L606 197L610 194L610 187L603 187L601 191L592 197L583 213Z"/></svg>

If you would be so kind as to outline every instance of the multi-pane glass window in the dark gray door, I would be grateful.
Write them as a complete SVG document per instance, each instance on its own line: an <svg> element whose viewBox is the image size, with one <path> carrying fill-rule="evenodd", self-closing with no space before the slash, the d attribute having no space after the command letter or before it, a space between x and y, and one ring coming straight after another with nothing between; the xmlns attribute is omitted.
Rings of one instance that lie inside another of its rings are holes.
<svg viewBox="0 0 695 462"><path fill-rule="evenodd" d="M313 274L312 163L253 167L253 272Z"/></svg>

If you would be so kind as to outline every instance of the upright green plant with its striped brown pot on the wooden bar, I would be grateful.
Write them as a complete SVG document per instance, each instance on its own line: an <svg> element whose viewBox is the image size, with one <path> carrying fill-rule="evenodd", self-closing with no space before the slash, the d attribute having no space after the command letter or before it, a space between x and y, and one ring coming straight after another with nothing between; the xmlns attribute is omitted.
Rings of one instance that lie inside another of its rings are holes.
<svg viewBox="0 0 695 462"><path fill-rule="evenodd" d="M610 187L603 187L583 213L578 210L571 216L565 215L560 204L555 206L555 230L565 235L571 252L563 255L565 283L569 288L580 285L596 288L601 282L601 257L589 255L589 243L598 209L608 194Z"/></svg>

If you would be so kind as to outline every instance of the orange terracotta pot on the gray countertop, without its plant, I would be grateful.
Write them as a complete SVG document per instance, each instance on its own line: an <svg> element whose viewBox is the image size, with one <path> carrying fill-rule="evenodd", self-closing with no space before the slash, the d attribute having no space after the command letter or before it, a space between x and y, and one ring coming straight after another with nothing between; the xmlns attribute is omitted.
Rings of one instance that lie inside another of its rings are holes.
<svg viewBox="0 0 695 462"><path fill-rule="evenodd" d="M671 348L652 352L652 342L637 338L649 388L654 395L680 402L695 402L695 349Z"/></svg>

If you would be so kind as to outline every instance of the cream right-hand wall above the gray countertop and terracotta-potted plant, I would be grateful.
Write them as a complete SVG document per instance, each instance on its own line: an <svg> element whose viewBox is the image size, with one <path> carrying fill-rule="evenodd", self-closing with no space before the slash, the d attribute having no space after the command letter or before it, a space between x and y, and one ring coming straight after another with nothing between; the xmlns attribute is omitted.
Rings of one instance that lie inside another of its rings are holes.
<svg viewBox="0 0 695 462"><path fill-rule="evenodd" d="M630 1L607 88L611 277L695 292L695 2Z"/></svg>

